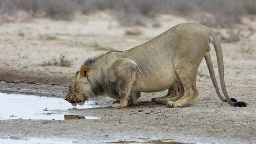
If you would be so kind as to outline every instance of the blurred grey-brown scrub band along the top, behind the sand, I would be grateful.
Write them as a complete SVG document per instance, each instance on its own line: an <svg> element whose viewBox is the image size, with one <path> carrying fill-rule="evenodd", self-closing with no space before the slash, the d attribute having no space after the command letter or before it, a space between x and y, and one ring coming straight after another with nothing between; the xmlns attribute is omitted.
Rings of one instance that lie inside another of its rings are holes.
<svg viewBox="0 0 256 144"><path fill-rule="evenodd" d="M146 25L158 14L176 14L211 27L231 27L256 14L256 0L0 0L0 21L26 11L33 17L72 20L76 12L112 12L122 25Z"/></svg>

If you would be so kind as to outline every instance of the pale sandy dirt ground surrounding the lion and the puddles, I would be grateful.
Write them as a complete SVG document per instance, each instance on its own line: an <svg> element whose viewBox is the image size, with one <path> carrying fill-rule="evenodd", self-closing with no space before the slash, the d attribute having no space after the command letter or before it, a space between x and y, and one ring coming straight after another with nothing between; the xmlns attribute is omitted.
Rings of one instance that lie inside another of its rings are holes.
<svg viewBox="0 0 256 144"><path fill-rule="evenodd" d="M64 97L67 84L83 61L108 50L85 46L99 41L116 50L143 44L172 26L191 22L173 15L159 15L160 27L123 27L104 12L77 15L73 21L47 18L0 24L0 92ZM140 36L127 36L125 30L139 29ZM234 27L246 35L256 30L256 19L244 18ZM228 29L214 29L218 34ZM219 36L219 35L218 35ZM166 93L143 93L138 107L111 108L108 97L93 99L105 108L72 109L76 115L100 117L97 120L1 120L0 138L51 138L74 143L138 142L161 140L182 143L256 143L256 33L242 36L233 43L221 42L225 82L230 97L248 104L230 107L217 96L205 60L197 76L199 96L185 108L166 108L151 102L152 96ZM243 49L243 48L244 49ZM212 48L213 49L213 48ZM248 50L248 51L247 51ZM73 60L71 67L48 65L61 55ZM218 77L214 50L211 57ZM219 82L219 80L218 80ZM25 88L25 90L23 90ZM156 144L160 141L152 142Z"/></svg>

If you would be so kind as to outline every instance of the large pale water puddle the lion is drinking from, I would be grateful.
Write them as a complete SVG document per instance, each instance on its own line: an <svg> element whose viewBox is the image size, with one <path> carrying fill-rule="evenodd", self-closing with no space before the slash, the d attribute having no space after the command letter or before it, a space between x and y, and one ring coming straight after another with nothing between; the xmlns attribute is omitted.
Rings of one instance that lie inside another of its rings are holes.
<svg viewBox="0 0 256 144"><path fill-rule="evenodd" d="M0 120L100 119L72 115L68 109L74 107L63 98L0 93L0 99ZM76 106L76 108L94 108L91 104L92 102L88 101L84 106Z"/></svg>

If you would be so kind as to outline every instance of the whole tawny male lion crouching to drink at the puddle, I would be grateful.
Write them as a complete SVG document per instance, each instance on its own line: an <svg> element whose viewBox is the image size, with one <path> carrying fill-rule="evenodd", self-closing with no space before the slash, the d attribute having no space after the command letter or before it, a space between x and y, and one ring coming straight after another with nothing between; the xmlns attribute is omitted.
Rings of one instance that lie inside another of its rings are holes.
<svg viewBox="0 0 256 144"><path fill-rule="evenodd" d="M213 44L219 66L220 95L209 47ZM246 107L245 102L230 99L224 83L222 50L216 34L202 24L178 24L145 44L126 51L110 51L85 60L81 70L69 85L66 100L83 105L88 98L108 95L119 99L113 108L136 105L141 92L168 94L152 101L167 107L185 107L198 96L196 73L203 57L219 98L234 107Z"/></svg>

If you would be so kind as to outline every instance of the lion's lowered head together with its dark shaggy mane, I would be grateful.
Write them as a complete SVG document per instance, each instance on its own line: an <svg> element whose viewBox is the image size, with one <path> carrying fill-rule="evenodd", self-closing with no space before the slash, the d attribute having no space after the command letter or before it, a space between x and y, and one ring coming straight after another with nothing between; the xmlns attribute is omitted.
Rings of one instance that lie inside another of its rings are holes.
<svg viewBox="0 0 256 144"><path fill-rule="evenodd" d="M110 81L105 72L107 68L102 69L102 62L97 61L109 55L111 52L101 54L98 57L85 60L80 71L75 73L75 78L69 84L69 91L65 99L73 106L84 105L88 98L108 95L114 99L121 98L121 88L118 82ZM103 60L104 61L104 60ZM89 71L90 67L90 71ZM105 73L104 73L105 72Z"/></svg>

